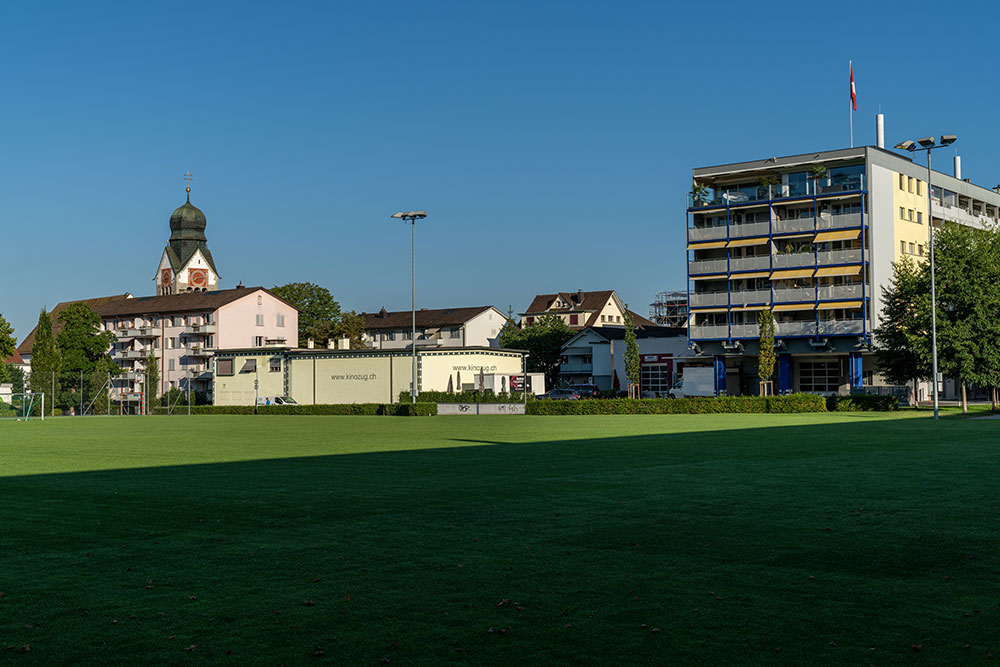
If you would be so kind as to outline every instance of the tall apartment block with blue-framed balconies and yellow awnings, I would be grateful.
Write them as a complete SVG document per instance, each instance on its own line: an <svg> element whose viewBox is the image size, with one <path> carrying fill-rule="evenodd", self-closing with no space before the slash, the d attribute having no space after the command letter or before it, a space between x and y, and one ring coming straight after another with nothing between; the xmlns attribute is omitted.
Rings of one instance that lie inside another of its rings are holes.
<svg viewBox="0 0 1000 667"><path fill-rule="evenodd" d="M928 256L928 221L995 223L1000 194L862 146L693 170L688 337L717 387L756 393L757 316L770 309L776 391L879 384L872 354L892 263ZM918 398L920 398L918 396Z"/></svg>

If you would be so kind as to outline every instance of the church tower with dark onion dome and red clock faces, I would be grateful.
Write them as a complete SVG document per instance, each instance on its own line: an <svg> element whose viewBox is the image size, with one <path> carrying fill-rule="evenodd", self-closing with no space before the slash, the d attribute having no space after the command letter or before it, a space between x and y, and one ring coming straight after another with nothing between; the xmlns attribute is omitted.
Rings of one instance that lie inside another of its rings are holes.
<svg viewBox="0 0 1000 667"><path fill-rule="evenodd" d="M190 180L190 173L185 176ZM153 278L154 294L214 292L219 289L219 274L205 238L205 214L187 201L170 216L170 241L163 249L160 266Z"/></svg>

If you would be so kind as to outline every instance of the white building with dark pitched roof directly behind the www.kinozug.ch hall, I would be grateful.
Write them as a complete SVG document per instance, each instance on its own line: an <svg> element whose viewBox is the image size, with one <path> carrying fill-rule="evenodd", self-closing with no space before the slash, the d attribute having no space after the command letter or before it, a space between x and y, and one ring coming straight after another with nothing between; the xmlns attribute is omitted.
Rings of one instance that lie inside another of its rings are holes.
<svg viewBox="0 0 1000 667"><path fill-rule="evenodd" d="M409 310L361 313L364 342L377 350L412 347L413 312ZM417 347L499 347L507 316L493 306L421 308L416 312Z"/></svg>

